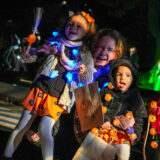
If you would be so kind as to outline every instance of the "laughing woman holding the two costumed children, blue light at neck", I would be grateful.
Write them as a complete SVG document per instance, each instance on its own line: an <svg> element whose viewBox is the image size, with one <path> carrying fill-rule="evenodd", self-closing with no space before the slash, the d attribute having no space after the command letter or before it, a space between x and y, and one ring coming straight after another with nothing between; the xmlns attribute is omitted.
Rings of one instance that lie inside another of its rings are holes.
<svg viewBox="0 0 160 160"><path fill-rule="evenodd" d="M94 73L94 81L98 82L99 88L109 83L109 61L118 59L122 55L127 54L126 41L124 37L116 30L101 29L94 37L92 53L96 72ZM79 117L77 112L74 115L74 133L77 140L81 143L88 131L81 132Z"/></svg>

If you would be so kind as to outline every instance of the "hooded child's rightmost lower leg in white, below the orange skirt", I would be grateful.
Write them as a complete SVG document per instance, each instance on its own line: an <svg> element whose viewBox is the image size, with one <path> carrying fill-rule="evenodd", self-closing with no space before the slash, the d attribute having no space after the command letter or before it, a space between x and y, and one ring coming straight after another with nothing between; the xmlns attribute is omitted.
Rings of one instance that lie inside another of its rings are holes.
<svg viewBox="0 0 160 160"><path fill-rule="evenodd" d="M116 144L118 160L129 160L130 146L128 144Z"/></svg>

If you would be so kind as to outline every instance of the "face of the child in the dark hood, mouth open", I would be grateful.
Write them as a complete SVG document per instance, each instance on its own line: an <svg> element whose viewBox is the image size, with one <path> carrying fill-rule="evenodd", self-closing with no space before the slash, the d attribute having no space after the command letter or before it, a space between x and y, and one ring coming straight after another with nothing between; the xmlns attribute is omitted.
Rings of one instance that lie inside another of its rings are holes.
<svg viewBox="0 0 160 160"><path fill-rule="evenodd" d="M133 80L131 70L126 66L119 66L117 69L115 83L121 92L126 92L131 86Z"/></svg>

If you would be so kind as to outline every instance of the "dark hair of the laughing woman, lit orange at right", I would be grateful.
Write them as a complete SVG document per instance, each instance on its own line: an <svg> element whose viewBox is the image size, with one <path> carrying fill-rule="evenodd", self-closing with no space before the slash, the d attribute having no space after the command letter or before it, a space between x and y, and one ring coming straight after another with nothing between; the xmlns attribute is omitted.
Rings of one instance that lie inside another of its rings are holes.
<svg viewBox="0 0 160 160"><path fill-rule="evenodd" d="M110 28L103 28L100 29L93 38L92 43L92 53L94 53L95 49L97 48L97 45L100 41L100 39L104 36L110 36L112 37L116 42L116 58L120 58L123 55L127 54L127 43L125 38L122 36L120 32L117 30L113 30Z"/></svg>

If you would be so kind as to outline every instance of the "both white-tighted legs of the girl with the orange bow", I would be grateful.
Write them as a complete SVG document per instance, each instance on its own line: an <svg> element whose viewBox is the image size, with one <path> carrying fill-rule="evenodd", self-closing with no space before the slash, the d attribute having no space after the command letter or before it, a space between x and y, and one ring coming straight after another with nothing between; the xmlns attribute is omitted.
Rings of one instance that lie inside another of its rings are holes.
<svg viewBox="0 0 160 160"><path fill-rule="evenodd" d="M11 133L7 142L4 152L5 157L13 156L14 151L20 144L24 134L28 131L35 118L36 115L31 115L30 111L23 111L19 123ZM52 128L54 124L55 120L49 116L42 117L39 124L43 160L53 160L54 141L52 137Z"/></svg>

